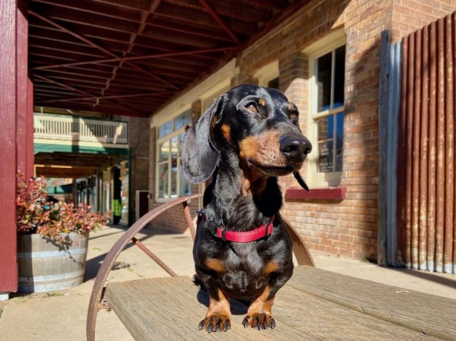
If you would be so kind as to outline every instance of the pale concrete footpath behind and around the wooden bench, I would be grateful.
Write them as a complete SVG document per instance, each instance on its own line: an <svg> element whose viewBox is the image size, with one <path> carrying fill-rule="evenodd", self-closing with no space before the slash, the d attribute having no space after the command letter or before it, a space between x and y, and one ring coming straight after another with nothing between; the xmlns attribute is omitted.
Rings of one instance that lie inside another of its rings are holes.
<svg viewBox="0 0 456 341"><path fill-rule="evenodd" d="M16 295L6 302L0 302L0 340L86 340L86 315L94 278L106 253L124 231L120 227L106 227L90 234L86 278L77 288L53 293ZM194 274L192 239L189 234L144 229L137 238L178 275ZM328 271L456 299L454 275L381 268L372 263L323 254L314 254L314 258L318 268ZM120 253L108 282L165 276L167 273L145 253L130 246ZM96 340L123 341L133 338L115 313L100 310Z"/></svg>

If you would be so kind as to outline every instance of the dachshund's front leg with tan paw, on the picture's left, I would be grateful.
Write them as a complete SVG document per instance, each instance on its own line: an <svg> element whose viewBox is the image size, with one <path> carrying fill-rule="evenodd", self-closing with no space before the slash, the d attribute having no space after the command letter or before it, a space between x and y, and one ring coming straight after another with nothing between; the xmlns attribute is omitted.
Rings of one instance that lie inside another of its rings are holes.
<svg viewBox="0 0 456 341"><path fill-rule="evenodd" d="M229 309L229 296L217 285L217 282L207 273L198 271L197 276L209 293L209 307L204 320L199 322L199 330L207 332L226 332L231 327L231 310Z"/></svg>

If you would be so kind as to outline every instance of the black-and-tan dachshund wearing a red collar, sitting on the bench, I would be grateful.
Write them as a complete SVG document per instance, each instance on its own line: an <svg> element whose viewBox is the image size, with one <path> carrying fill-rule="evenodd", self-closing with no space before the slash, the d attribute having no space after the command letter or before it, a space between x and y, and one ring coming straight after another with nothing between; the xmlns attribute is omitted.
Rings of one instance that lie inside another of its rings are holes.
<svg viewBox="0 0 456 341"><path fill-rule="evenodd" d="M252 299L244 327L276 326L274 296L293 274L277 177L294 173L306 188L298 171L311 148L296 105L279 90L258 85L224 93L187 130L181 147L185 177L198 184L212 175L193 248L195 281L209 293L199 330L231 327L230 297Z"/></svg>

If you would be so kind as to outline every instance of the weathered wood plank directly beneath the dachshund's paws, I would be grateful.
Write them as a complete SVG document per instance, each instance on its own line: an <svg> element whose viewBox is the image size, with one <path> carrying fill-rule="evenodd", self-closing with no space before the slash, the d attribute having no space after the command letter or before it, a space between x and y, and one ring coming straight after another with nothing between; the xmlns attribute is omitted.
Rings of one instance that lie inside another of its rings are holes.
<svg viewBox="0 0 456 341"><path fill-rule="evenodd" d="M135 340L437 340L288 286L274 303L277 327L261 332L242 327L247 307L238 302L227 334L197 330L207 294L187 277L110 283L105 298Z"/></svg>

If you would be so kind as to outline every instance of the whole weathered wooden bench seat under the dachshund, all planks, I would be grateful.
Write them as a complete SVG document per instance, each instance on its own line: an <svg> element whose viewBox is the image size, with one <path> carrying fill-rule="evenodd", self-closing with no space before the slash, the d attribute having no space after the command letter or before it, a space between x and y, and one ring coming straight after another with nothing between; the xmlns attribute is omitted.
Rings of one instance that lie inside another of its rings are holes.
<svg viewBox="0 0 456 341"><path fill-rule="evenodd" d="M197 329L206 313L208 298L189 277L109 283L105 299L135 340L441 340L423 334L437 329L442 330L438 336L443 340L455 340L455 314L450 314L456 307L454 300L413 293L407 303L410 313L406 314L405 301L398 300L396 307L392 300L400 296L395 290L388 285L299 266L289 284L276 295L274 330L244 329L241 322L247 305L232 301L232 329L211 334ZM430 323L423 323L425 330L421 332L404 321L414 315L411 310L415 305L423 303L425 307L416 310L421 316L415 324L422 325L420 321L426 317ZM442 311L438 309L440 303ZM427 313L425 308L429 308ZM377 317L371 312L375 309L383 315ZM431 323L435 324L433 328Z"/></svg>

